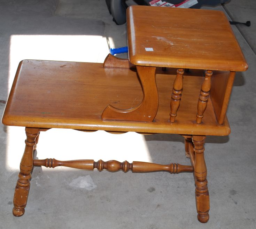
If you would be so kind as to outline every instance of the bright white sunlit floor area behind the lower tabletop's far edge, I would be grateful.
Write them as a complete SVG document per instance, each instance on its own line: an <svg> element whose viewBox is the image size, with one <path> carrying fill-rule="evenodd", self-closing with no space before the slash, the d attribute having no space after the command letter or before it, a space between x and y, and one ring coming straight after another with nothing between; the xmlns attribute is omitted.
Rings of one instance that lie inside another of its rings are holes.
<svg viewBox="0 0 256 229"><path fill-rule="evenodd" d="M18 64L21 60L34 59L103 63L108 53L107 39L102 36L11 35L8 89L10 90Z"/></svg>

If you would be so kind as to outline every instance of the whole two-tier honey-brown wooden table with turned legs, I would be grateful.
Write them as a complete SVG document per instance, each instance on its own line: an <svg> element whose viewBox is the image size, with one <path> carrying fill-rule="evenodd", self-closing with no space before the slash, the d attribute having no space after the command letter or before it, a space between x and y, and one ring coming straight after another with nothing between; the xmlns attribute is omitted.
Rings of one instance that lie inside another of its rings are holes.
<svg viewBox="0 0 256 229"><path fill-rule="evenodd" d="M127 9L127 37L129 60L109 55L103 66L21 61L2 118L26 131L15 216L24 214L33 166L67 166L193 172L197 218L209 220L204 141L230 134L226 110L235 72L248 68L238 42L223 12L148 6ZM50 128L180 134L191 165L33 159L40 131Z"/></svg>

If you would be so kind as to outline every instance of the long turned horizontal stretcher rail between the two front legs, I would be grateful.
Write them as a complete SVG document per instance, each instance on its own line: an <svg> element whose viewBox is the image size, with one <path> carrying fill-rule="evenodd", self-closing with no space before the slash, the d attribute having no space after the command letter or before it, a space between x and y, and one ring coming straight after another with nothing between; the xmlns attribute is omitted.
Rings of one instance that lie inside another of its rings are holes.
<svg viewBox="0 0 256 229"><path fill-rule="evenodd" d="M58 161L56 159L43 159L33 160L34 166L45 166L49 168L55 168L57 166L65 166L75 169L84 169L84 170L93 170L98 169L99 171L106 169L110 172L116 172L119 170L123 170L124 172L128 172L131 170L132 172L170 172L170 173L180 173L180 172L193 172L193 166L184 166L181 164L155 164L149 162L141 162L141 161L134 161L129 163L128 161L119 162L115 160L111 161L94 161L94 160L72 160L72 161Z"/></svg>

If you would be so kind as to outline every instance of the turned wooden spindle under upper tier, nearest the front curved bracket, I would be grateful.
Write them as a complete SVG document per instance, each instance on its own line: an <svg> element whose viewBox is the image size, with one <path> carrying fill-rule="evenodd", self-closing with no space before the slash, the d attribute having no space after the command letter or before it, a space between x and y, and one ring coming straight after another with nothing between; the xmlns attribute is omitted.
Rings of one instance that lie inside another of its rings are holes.
<svg viewBox="0 0 256 229"><path fill-rule="evenodd" d="M175 121L175 118L177 116L177 110L180 106L181 92L183 88L183 74L184 74L184 69L179 68L177 70L177 75L173 83L170 122Z"/></svg>

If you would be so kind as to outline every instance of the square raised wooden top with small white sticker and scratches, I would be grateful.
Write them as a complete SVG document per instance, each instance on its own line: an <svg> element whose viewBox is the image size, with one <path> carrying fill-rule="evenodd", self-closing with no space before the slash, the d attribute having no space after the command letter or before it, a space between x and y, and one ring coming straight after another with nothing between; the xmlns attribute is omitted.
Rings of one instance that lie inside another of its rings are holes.
<svg viewBox="0 0 256 229"><path fill-rule="evenodd" d="M129 60L134 65L223 71L248 68L222 11L131 6L127 35Z"/></svg>

